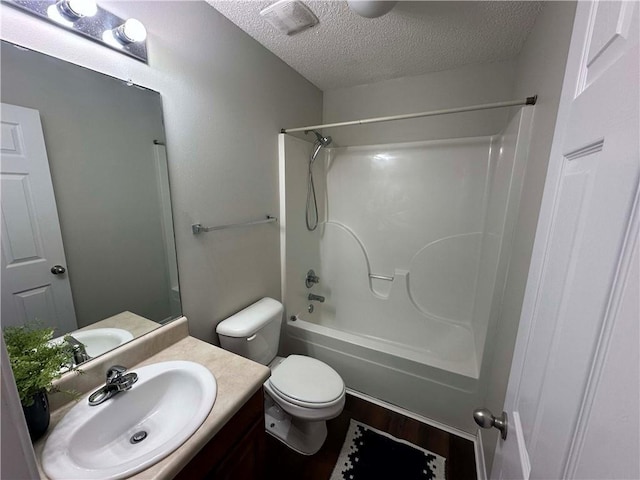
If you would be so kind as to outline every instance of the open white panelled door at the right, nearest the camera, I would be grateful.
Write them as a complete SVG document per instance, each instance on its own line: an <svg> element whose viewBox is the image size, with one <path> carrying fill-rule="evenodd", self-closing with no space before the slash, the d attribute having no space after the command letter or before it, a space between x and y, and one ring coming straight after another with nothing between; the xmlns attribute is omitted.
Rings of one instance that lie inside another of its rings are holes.
<svg viewBox="0 0 640 480"><path fill-rule="evenodd" d="M492 478L640 478L638 10L577 6Z"/></svg>

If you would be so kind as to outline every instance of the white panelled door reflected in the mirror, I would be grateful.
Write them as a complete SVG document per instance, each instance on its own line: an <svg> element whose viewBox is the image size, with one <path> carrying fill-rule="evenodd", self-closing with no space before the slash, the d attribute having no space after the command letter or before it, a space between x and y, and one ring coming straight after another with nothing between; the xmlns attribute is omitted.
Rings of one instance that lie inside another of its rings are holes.
<svg viewBox="0 0 640 480"><path fill-rule="evenodd" d="M40 114L1 108L2 325L37 319L67 333L76 314Z"/></svg>

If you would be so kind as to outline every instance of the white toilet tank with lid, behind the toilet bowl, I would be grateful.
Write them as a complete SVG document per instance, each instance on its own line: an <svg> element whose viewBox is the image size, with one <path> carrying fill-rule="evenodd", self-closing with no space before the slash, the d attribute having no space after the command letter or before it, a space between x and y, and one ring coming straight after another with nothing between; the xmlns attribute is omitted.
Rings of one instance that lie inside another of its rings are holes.
<svg viewBox="0 0 640 480"><path fill-rule="evenodd" d="M220 345L254 362L268 365L278 353L284 307L265 297L223 320L216 327Z"/></svg>

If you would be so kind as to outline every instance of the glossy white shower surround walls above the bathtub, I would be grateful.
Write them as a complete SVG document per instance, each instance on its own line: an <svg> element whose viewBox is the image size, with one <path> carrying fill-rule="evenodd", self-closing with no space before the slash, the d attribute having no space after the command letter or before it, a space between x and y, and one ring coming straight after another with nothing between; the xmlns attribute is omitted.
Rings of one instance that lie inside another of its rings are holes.
<svg viewBox="0 0 640 480"><path fill-rule="evenodd" d="M302 318L477 376L471 313L491 137L330 148L314 166L327 211L320 219L328 222L315 232L304 222L301 143L289 141L286 152L286 209L296 212L287 217L287 270L300 262L294 283L287 278L287 311L309 292L323 295L327 302ZM309 268L321 278L310 291L303 282ZM370 273L395 279L370 280Z"/></svg>

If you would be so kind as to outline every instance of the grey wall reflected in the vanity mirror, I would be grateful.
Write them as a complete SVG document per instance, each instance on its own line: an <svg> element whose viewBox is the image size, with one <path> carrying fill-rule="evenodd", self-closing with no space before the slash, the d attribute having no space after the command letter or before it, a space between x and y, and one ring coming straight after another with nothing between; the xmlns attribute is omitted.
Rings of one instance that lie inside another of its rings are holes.
<svg viewBox="0 0 640 480"><path fill-rule="evenodd" d="M7 44L0 58L2 101L40 111L78 326L124 310L170 316L160 96Z"/></svg>

